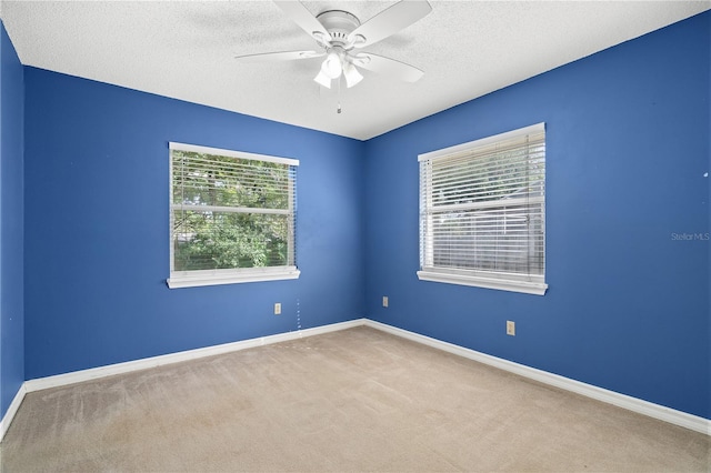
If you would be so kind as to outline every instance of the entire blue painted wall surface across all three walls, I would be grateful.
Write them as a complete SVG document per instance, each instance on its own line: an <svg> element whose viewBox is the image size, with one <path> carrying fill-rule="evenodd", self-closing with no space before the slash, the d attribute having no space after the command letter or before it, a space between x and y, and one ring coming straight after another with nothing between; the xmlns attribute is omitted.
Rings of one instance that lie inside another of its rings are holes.
<svg viewBox="0 0 711 473"><path fill-rule="evenodd" d="M22 72L2 32L0 412L22 350L33 379L364 315L711 417L709 242L673 238L709 232L710 22L364 143L24 68L24 204L22 130L8 123ZM418 281L417 155L540 121L548 294ZM167 289L168 141L301 161L299 280Z"/></svg>

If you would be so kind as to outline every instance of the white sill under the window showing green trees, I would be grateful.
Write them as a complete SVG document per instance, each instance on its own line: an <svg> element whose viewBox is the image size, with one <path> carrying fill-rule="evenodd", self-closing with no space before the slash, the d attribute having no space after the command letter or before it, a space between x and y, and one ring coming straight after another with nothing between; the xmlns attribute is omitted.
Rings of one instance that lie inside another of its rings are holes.
<svg viewBox="0 0 711 473"><path fill-rule="evenodd" d="M294 266L259 268L248 271L191 271L173 273L166 281L168 288L198 288L202 285L236 284L243 282L280 281L299 279L301 272Z"/></svg>

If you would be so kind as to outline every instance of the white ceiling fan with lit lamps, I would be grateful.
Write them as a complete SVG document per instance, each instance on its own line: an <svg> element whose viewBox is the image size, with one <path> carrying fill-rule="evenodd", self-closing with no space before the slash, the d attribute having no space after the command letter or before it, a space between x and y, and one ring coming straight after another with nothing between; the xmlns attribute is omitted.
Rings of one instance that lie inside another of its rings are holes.
<svg viewBox="0 0 711 473"><path fill-rule="evenodd" d="M274 3L316 40L319 50L238 56L238 61L273 62L326 57L313 80L329 89L332 81L340 81L341 76L349 88L359 83L363 76L358 68L407 82L415 82L424 74L420 69L394 59L358 50L425 17L432 10L425 0L402 0L362 24L354 14L343 10L327 10L314 17L300 1L274 0Z"/></svg>

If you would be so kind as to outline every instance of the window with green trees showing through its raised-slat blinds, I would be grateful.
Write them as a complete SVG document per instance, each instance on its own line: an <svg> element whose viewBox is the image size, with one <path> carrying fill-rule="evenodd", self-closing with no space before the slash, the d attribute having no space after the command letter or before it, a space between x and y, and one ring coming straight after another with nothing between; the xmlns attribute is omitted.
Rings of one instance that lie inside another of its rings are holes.
<svg viewBox="0 0 711 473"><path fill-rule="evenodd" d="M299 161L170 143L170 288L299 278Z"/></svg>

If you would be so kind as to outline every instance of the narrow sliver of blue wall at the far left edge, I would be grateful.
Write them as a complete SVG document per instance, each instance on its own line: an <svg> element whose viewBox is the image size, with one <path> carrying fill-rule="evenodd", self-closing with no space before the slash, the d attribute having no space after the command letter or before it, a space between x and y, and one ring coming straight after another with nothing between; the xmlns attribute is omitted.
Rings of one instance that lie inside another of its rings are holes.
<svg viewBox="0 0 711 473"><path fill-rule="evenodd" d="M24 381L22 76L0 22L0 419Z"/></svg>

